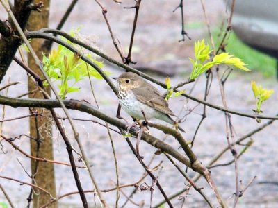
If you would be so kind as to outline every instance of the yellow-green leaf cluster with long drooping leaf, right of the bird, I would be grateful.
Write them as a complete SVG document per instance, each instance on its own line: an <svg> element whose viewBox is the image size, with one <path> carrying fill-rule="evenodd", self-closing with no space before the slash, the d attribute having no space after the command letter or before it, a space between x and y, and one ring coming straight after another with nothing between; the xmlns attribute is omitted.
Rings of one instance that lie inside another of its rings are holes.
<svg viewBox="0 0 278 208"><path fill-rule="evenodd" d="M211 67L218 64L227 64L238 69L242 69L244 71L250 71L247 69L245 62L240 58L234 57L234 55L229 55L229 53L220 53L215 55L212 61L208 61L210 59L210 53L212 52L209 49L208 44L204 43L204 40L195 42L194 45L195 51L195 60L189 58L191 64L193 64L193 70L190 74L190 80L194 80L199 77L206 70L211 69Z"/></svg>

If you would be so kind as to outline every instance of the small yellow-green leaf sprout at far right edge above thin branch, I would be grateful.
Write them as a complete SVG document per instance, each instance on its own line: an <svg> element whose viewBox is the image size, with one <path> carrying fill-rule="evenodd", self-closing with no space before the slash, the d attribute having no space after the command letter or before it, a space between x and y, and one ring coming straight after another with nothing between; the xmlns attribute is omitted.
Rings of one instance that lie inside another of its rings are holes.
<svg viewBox="0 0 278 208"><path fill-rule="evenodd" d="M273 89L263 89L263 87L261 87L261 85L256 85L255 81L251 82L251 86L252 86L252 90L256 99L256 110L254 110L254 112L256 112L256 114L259 114L261 112L263 112L261 110L261 104L263 103L263 101L268 100L268 98L270 98L270 96L272 95L272 93L274 92Z"/></svg>

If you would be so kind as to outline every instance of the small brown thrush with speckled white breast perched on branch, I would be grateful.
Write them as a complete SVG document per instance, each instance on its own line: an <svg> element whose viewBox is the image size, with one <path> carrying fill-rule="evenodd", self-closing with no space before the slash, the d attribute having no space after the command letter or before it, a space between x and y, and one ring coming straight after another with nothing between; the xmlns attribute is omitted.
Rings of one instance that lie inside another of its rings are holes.
<svg viewBox="0 0 278 208"><path fill-rule="evenodd" d="M122 108L136 120L160 119L175 124L170 116L175 116L169 109L167 101L151 84L136 73L122 73L115 78L119 83L119 102ZM179 130L185 132L182 128Z"/></svg>

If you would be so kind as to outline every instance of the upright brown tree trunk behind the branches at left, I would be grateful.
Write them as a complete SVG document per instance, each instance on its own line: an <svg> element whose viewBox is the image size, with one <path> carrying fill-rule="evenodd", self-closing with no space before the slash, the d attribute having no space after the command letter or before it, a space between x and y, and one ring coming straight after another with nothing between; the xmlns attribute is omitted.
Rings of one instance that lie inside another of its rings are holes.
<svg viewBox="0 0 278 208"><path fill-rule="evenodd" d="M38 3L39 1L34 1L34 3ZM42 12L32 12L30 19L28 21L28 31L36 31L40 28L47 28L49 21L49 4L50 0L43 0L44 8L42 8ZM33 47L35 53L37 53L38 57L42 60L42 51L44 53L49 53L45 49L42 49L43 40L34 39L31 42L31 46ZM35 64L35 60L32 55L28 53L28 66L35 71L40 77L42 77L42 73L40 73L40 69ZM32 91L37 89L35 83L29 78L28 80L28 90ZM50 92L47 89L47 92ZM44 98L42 93L36 92L30 94L31 98ZM42 157L47 159L54 159L53 156L53 146L52 146L52 137L51 137L51 116L49 110L42 110L41 108L32 109L38 112L38 117L30 119L30 135L35 138L31 139L31 155L36 157ZM43 114L44 116L40 116ZM56 184L55 184L55 174L54 174L54 164L47 162L37 162L31 160L31 168L33 175L33 183L46 189L51 193L51 195L56 198ZM40 207L41 205L49 202L49 196L46 193L39 192L38 190L34 190L33 193L33 207ZM38 195L39 193L39 195ZM49 207L57 207L56 203L52 204Z"/></svg>

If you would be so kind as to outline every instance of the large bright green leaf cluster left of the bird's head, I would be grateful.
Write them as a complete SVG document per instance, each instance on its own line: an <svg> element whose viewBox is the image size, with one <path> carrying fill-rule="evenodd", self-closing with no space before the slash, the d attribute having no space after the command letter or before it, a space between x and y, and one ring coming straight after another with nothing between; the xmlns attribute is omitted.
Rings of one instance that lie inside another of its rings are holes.
<svg viewBox="0 0 278 208"><path fill-rule="evenodd" d="M71 31L70 35L74 36L76 31ZM72 44L69 40L67 43ZM75 44L72 44L73 46ZM103 67L104 64L92 58L92 55L85 54L87 58L95 62L97 66ZM89 64L81 60L79 55L72 53L64 46L58 45L58 49L52 49L48 57L43 54L44 70L53 81L59 81L60 98L65 99L70 92L77 92L80 87L76 87L76 83L83 80L87 76L102 79L102 76ZM108 72L106 72L108 73ZM47 85L47 82L44 82Z"/></svg>

